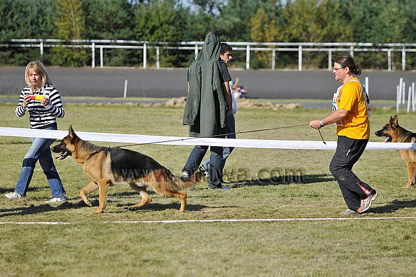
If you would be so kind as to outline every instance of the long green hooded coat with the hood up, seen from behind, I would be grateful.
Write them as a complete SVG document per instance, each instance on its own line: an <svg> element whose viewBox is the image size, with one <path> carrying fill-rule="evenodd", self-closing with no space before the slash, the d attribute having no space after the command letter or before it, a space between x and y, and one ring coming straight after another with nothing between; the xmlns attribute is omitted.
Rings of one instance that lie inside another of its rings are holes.
<svg viewBox="0 0 416 277"><path fill-rule="evenodd" d="M189 66L189 91L183 124L189 136L221 134L225 127L225 87L220 72L220 40L209 32L202 50Z"/></svg>

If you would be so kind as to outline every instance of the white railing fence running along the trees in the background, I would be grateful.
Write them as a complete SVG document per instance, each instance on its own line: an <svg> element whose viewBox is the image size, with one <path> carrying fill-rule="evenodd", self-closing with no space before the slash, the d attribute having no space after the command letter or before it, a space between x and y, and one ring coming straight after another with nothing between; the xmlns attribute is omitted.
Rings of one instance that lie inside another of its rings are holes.
<svg viewBox="0 0 416 277"><path fill-rule="evenodd" d="M372 44L361 42L227 42L235 51L245 51L245 69L250 69L250 53L252 51L271 51L271 69L275 70L276 52L297 52L297 69L302 71L303 52L328 52L328 69L332 69L333 52L384 52L388 63L388 71L392 71L392 53L401 53L401 70L406 70L406 53L415 53L416 44ZM121 39L5 39L0 40L0 47L37 47L43 56L44 48L91 48L92 67L96 66L96 49L100 51L100 66L103 67L103 49L141 49L143 51L143 67L146 69L148 48L156 49L156 68L160 66L160 48L177 50L194 50L195 57L203 42L145 42Z"/></svg>

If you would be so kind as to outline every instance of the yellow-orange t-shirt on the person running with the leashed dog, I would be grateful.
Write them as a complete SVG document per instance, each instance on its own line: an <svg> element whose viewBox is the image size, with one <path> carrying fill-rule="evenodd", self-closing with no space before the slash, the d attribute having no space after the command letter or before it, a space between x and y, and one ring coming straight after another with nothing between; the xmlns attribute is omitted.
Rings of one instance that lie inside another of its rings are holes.
<svg viewBox="0 0 416 277"><path fill-rule="evenodd" d="M341 122L336 123L336 134L350 139L369 139L370 120L368 120L363 88L358 79L354 77L343 84L334 100L338 109L349 111Z"/></svg>

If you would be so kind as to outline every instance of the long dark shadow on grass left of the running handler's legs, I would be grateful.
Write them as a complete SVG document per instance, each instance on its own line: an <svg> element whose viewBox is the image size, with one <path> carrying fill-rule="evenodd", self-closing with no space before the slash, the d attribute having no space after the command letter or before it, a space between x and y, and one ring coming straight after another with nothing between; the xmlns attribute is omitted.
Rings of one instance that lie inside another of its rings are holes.
<svg viewBox="0 0 416 277"><path fill-rule="evenodd" d="M335 179L331 175L327 174L314 174L314 175L285 175L279 178L268 179L252 179L232 181L228 184L233 188L241 186L276 186L276 185L289 185L289 184L313 184L322 183L327 181L334 181Z"/></svg>

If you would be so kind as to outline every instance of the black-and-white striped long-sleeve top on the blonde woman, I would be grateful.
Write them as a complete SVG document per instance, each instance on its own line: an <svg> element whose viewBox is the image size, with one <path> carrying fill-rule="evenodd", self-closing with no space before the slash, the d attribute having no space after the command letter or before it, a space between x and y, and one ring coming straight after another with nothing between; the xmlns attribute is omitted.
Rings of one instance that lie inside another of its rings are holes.
<svg viewBox="0 0 416 277"><path fill-rule="evenodd" d="M44 107L40 100L30 100L26 109L23 107L23 100L26 94L31 94L30 87L21 90L19 104L16 108L16 115L24 116L29 112L31 128L40 128L56 123L56 118L63 118L65 115L64 107L60 98L60 93L52 84L45 84L40 91L33 91L33 96L44 96L49 98L49 105Z"/></svg>

